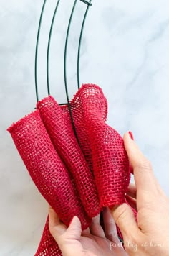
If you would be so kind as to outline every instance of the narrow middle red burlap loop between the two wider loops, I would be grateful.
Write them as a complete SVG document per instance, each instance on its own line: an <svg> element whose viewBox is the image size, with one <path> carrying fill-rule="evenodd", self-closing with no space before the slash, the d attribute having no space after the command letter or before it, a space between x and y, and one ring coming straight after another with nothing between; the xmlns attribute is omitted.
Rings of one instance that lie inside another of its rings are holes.
<svg viewBox="0 0 169 256"><path fill-rule="evenodd" d="M95 180L74 136L70 119L51 96L39 101L37 109L55 150L74 178L84 209L91 218L96 216L100 203Z"/></svg>

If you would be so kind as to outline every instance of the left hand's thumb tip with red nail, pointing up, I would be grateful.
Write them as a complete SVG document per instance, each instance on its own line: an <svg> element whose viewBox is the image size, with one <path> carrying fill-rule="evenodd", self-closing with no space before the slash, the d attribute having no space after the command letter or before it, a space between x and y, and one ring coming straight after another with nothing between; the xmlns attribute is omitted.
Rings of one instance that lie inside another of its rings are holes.
<svg viewBox="0 0 169 256"><path fill-rule="evenodd" d="M66 239L79 239L82 234L81 222L77 216L74 216L69 224L67 231L64 234Z"/></svg>

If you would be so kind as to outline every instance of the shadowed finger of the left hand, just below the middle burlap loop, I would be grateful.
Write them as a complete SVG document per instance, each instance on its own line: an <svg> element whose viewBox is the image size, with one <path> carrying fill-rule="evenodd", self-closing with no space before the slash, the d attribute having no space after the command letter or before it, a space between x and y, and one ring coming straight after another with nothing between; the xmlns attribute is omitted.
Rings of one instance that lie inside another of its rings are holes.
<svg viewBox="0 0 169 256"><path fill-rule="evenodd" d="M100 214L92 218L92 223L90 225L90 233L96 237L105 238L105 232L100 225Z"/></svg>

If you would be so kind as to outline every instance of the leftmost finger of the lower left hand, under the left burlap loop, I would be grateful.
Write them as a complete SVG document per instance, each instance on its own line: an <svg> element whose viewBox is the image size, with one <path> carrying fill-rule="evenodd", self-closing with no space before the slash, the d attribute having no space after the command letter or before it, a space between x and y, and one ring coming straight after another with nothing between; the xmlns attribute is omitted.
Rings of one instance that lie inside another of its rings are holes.
<svg viewBox="0 0 169 256"><path fill-rule="evenodd" d="M66 226L59 220L59 216L56 214L54 209L49 206L49 231L51 232L54 239L58 237L67 230Z"/></svg>

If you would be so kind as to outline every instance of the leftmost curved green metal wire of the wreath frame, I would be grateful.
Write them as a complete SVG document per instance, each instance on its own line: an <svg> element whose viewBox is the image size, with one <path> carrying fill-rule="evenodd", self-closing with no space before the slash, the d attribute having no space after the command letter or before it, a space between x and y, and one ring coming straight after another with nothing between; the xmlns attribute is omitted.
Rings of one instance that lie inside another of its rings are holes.
<svg viewBox="0 0 169 256"><path fill-rule="evenodd" d="M37 55L38 55L39 35L40 35L40 30L41 30L42 17L43 17L43 14L44 14L44 6L46 4L46 1L47 0L44 0L44 4L42 6L42 11L41 11L41 14L40 14L38 31L37 31L37 43L36 43L36 50L35 50L34 79L35 79L35 91L36 91L37 101L39 101L38 86L37 86Z"/></svg>

